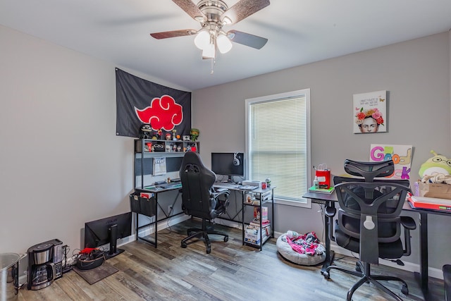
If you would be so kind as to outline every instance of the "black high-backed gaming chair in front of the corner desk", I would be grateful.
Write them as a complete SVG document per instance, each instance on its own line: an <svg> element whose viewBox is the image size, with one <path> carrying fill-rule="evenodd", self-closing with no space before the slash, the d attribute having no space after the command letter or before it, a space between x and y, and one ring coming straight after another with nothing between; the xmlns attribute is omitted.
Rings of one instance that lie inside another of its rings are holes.
<svg viewBox="0 0 451 301"><path fill-rule="evenodd" d="M182 240L181 245L187 247L188 240L202 236L206 245L206 254L209 254L211 252L209 234L223 235L224 241L228 241L227 234L214 230L211 220L226 211L230 191L213 189L216 175L204 166L196 152L187 152L183 156L180 180L182 181L183 211L185 214L202 219L202 228L188 229L188 237Z"/></svg>

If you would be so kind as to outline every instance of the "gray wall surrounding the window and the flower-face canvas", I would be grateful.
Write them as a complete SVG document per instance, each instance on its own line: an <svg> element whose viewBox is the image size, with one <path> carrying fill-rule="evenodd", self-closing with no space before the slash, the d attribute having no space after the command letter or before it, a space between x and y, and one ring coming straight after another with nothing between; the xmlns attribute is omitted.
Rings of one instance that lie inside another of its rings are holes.
<svg viewBox="0 0 451 301"><path fill-rule="evenodd" d="M299 51L302 55L302 51ZM311 89L311 161L344 173L345 159L369 159L371 143L413 145L411 180L436 152L451 156L450 42L448 33L311 63L193 93L193 126L199 128L202 159L218 151L245 150L245 99ZM220 76L216 74L214 76ZM388 132L352 133L352 94L388 90ZM274 129L268 135L283 135ZM318 205L312 209L278 205L276 231L323 233ZM416 216L415 216L416 217ZM431 216L430 265L451 262L451 240L439 228L451 219ZM434 233L437 233L434 235ZM412 256L419 262L417 233Z"/></svg>

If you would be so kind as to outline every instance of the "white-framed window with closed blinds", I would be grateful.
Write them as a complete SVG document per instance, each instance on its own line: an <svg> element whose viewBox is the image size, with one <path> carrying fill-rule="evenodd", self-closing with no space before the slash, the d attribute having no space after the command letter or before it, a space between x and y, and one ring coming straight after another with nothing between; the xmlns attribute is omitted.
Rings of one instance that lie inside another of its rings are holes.
<svg viewBox="0 0 451 301"><path fill-rule="evenodd" d="M310 90L246 99L247 175L271 178L279 204L311 207Z"/></svg>

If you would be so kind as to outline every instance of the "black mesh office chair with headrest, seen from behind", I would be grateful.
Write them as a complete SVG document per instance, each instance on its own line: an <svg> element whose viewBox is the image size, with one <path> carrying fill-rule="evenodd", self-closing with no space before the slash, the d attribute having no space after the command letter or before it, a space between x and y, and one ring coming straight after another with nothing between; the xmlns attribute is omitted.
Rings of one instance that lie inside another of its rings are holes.
<svg viewBox="0 0 451 301"><path fill-rule="evenodd" d="M378 264L379 258L399 260L411 251L410 230L414 230L416 225L411 217L400 216L409 192L409 181L374 180L389 176L394 170L393 161L379 163L346 160L345 171L352 176L363 178L334 177L340 209L335 223L335 237L331 235L331 240L335 240L340 247L359 253L359 262L355 270L328 266L323 276L328 279L330 270L337 269L361 277L348 290L347 300L351 300L355 290L364 283L373 283L396 300L402 300L378 281L400 281L401 292L404 295L409 294L407 283L401 278L371 274L371 264ZM333 207L326 208L329 221L332 221L335 212ZM400 238L401 225L404 228L405 248Z"/></svg>

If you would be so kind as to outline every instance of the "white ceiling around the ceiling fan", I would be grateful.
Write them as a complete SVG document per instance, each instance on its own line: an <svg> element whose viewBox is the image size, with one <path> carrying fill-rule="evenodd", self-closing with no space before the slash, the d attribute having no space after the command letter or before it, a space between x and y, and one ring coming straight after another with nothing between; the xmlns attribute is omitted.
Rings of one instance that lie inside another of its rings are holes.
<svg viewBox="0 0 451 301"><path fill-rule="evenodd" d="M237 0L224 0L229 7ZM197 4L197 0L194 0ZM200 25L171 0L0 0L0 24L186 90L424 37L451 28L451 0L271 0L224 29L266 37L203 60L194 36L151 32ZM0 46L1 49L1 46Z"/></svg>

